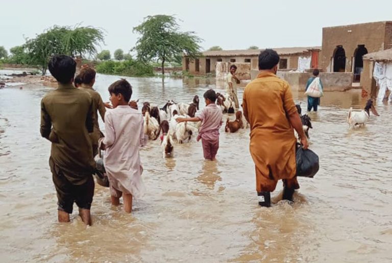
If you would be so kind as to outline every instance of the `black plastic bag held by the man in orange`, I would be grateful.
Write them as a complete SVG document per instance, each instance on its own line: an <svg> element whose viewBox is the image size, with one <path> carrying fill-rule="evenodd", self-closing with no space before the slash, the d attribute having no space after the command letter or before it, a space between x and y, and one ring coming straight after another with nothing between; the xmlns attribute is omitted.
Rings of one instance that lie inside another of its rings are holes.
<svg viewBox="0 0 392 263"><path fill-rule="evenodd" d="M296 151L297 176L312 178L320 168L318 156L312 150L304 150L301 145L297 145Z"/></svg>

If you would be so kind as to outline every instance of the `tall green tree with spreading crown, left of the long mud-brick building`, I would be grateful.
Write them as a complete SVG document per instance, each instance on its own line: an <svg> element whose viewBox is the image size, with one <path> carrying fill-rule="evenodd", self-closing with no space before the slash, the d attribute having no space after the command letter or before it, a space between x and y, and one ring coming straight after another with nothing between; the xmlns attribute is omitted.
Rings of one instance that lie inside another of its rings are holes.
<svg viewBox="0 0 392 263"><path fill-rule="evenodd" d="M178 54L192 59L200 56L201 38L194 32L180 32L174 16L145 17L133 31L141 35L134 48L138 59L144 62L160 61L162 74L165 73L164 63L173 62Z"/></svg>

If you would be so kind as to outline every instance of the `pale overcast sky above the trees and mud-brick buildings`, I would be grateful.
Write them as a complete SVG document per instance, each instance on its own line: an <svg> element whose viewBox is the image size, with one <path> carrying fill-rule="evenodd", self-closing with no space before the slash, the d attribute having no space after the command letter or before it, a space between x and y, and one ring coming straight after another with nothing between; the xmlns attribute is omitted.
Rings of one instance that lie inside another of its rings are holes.
<svg viewBox="0 0 392 263"><path fill-rule="evenodd" d="M101 3L102 2L102 3ZM92 25L106 31L101 49L131 49L132 32L148 15L176 15L182 31L194 31L208 49L317 46L322 28L392 20L391 0L1 0L0 46L24 43L52 25Z"/></svg>

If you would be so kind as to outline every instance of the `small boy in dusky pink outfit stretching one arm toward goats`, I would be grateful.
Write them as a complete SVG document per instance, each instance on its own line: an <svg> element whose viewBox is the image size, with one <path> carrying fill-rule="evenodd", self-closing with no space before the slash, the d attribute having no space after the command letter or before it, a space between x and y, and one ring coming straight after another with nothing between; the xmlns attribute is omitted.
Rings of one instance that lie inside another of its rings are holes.
<svg viewBox="0 0 392 263"><path fill-rule="evenodd" d="M222 126L222 110L215 104L216 93L210 89L204 93L206 108L199 117L178 118L177 122L201 121L198 141L202 139L204 159L215 161L216 153L219 149L219 128Z"/></svg>

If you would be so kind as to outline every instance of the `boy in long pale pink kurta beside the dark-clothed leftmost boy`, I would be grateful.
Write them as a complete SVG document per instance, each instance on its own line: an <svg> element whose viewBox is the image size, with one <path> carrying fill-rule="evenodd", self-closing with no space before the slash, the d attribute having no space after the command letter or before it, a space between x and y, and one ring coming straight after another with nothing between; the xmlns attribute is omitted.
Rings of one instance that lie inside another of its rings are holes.
<svg viewBox="0 0 392 263"><path fill-rule="evenodd" d="M139 147L145 145L144 119L140 112L128 104L132 87L126 80L110 85L109 93L113 110L105 114L104 165L112 204L119 205L122 196L124 210L130 213L133 196L139 198L145 191L139 155Z"/></svg>

